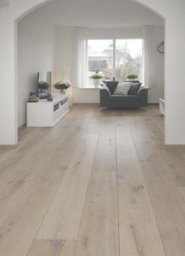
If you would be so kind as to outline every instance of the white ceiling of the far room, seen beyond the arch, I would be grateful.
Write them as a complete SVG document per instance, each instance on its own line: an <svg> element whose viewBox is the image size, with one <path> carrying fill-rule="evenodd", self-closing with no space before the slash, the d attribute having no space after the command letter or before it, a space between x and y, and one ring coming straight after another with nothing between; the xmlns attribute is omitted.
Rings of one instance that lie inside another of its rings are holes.
<svg viewBox="0 0 185 256"><path fill-rule="evenodd" d="M157 14L130 0L56 0L34 12L57 27L163 24Z"/></svg>

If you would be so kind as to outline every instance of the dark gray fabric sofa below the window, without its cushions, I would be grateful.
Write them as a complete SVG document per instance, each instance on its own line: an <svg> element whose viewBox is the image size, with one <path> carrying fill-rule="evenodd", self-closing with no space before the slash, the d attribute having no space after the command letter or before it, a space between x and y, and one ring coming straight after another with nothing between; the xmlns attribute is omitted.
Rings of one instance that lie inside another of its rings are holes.
<svg viewBox="0 0 185 256"><path fill-rule="evenodd" d="M118 82L101 83L100 108L140 108L147 107L147 88L140 86L136 95L114 95Z"/></svg>

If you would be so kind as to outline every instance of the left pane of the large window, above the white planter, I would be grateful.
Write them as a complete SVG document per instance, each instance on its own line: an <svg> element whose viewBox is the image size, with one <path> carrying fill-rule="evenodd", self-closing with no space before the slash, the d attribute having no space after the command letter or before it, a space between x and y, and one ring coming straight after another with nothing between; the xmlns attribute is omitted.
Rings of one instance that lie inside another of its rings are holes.
<svg viewBox="0 0 185 256"><path fill-rule="evenodd" d="M88 86L93 86L89 77L96 72L113 78L113 40L88 40Z"/></svg>

